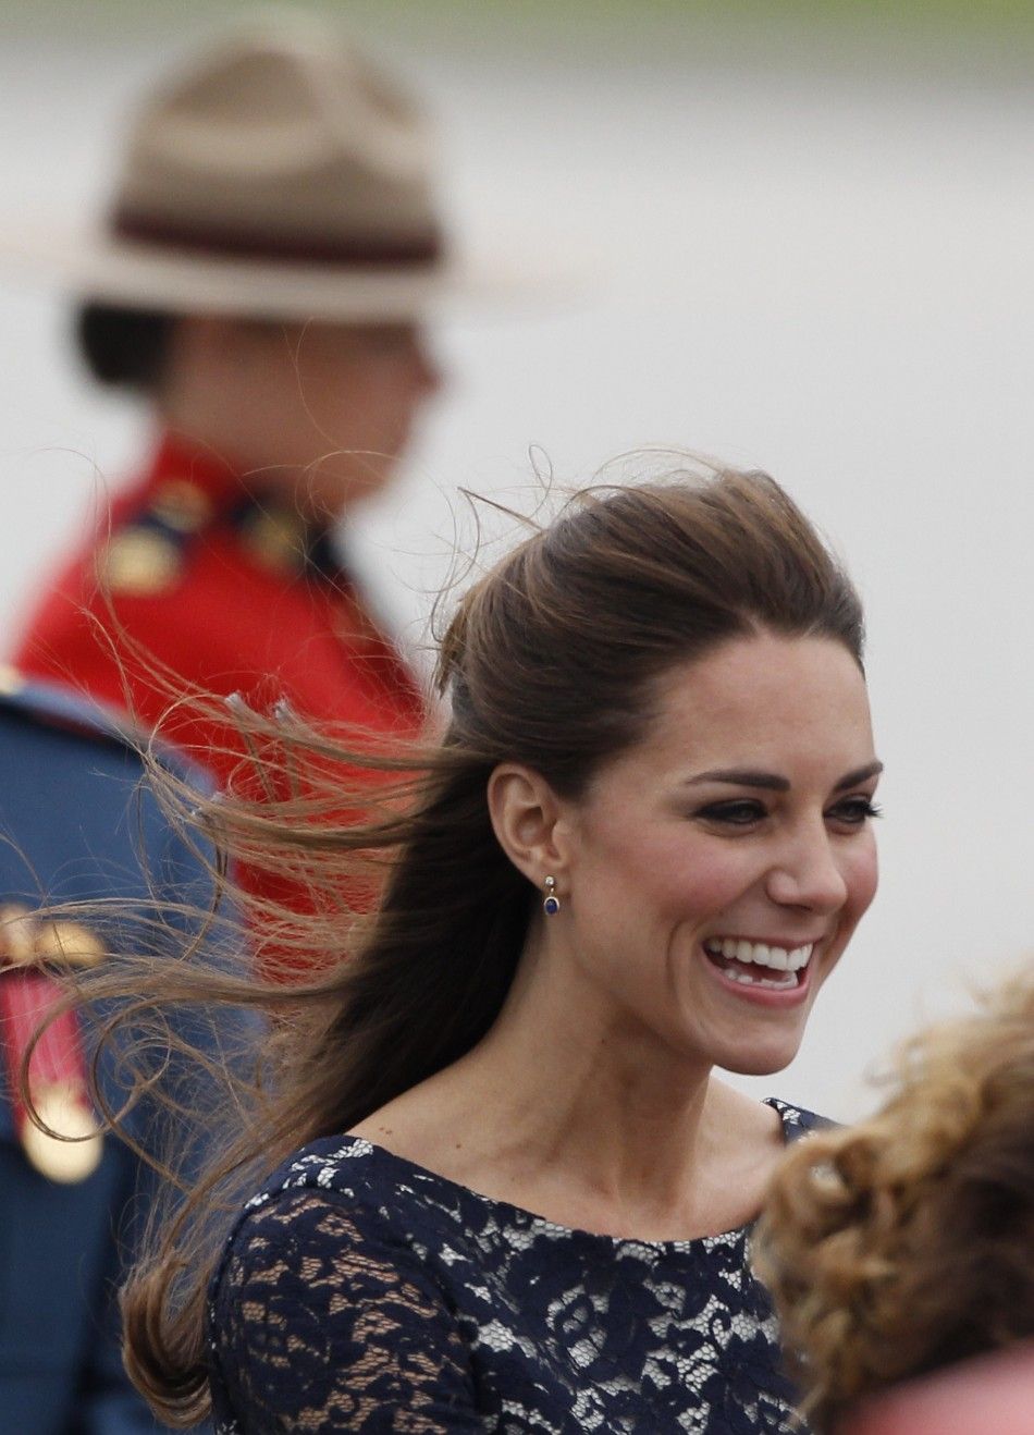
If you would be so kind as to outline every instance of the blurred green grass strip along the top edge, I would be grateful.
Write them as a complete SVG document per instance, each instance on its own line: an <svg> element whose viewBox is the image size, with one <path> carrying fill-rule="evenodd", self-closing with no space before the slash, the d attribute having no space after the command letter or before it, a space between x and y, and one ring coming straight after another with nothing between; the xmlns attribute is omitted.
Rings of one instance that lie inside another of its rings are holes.
<svg viewBox="0 0 1034 1435"><path fill-rule="evenodd" d="M211 30L265 6L255 0L0 0L0 32L42 39L133 40ZM499 52L589 57L621 46L665 60L767 53L807 60L869 50L922 67L954 56L998 59L1024 73L1034 57L1034 0L274 0L280 10L340 17L364 34Z"/></svg>

